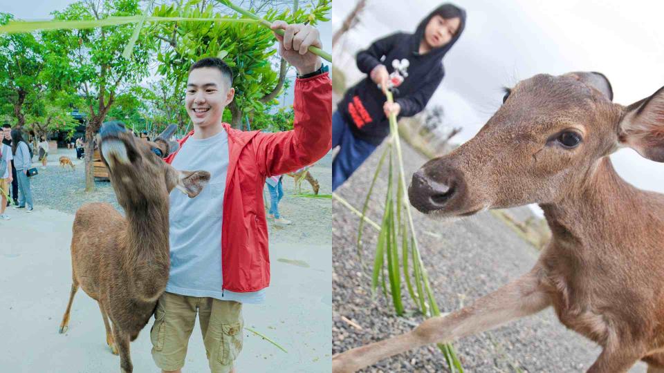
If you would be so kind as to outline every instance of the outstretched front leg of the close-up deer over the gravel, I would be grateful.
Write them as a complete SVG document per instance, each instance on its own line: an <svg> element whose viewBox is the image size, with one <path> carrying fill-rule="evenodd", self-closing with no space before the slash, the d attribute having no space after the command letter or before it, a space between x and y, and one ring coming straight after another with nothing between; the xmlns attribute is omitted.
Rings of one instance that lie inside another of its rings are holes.
<svg viewBox="0 0 664 373"><path fill-rule="evenodd" d="M479 298L473 305L448 316L430 318L411 332L356 347L332 358L334 373L356 372L362 367L429 343L447 343L528 316L551 301L540 287L537 269Z"/></svg>

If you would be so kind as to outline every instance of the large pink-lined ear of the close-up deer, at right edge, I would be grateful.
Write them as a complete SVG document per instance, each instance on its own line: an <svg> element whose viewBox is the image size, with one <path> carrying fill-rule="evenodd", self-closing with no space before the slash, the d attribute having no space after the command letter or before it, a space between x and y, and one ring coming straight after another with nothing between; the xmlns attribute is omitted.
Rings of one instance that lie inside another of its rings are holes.
<svg viewBox="0 0 664 373"><path fill-rule="evenodd" d="M664 162L664 87L625 108L618 140L643 157Z"/></svg>

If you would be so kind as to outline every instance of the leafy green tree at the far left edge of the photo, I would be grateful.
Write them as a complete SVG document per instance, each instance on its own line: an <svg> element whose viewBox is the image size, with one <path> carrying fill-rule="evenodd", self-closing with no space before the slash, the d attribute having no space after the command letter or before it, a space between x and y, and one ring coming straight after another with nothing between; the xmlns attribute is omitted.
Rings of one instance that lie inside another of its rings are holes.
<svg viewBox="0 0 664 373"><path fill-rule="evenodd" d="M0 13L0 24L14 19L8 13ZM17 127L26 123L25 107L28 97L39 97L36 92L44 89L40 74L44 69L44 46L33 34L0 35L0 99L6 102Z"/></svg>

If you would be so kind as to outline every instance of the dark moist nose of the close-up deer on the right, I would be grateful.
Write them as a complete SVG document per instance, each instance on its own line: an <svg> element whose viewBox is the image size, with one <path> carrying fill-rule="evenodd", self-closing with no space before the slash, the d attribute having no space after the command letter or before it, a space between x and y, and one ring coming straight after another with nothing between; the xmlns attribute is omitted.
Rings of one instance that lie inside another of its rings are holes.
<svg viewBox="0 0 664 373"><path fill-rule="evenodd" d="M456 192L457 178L454 173L445 175L444 182L438 182L427 177L424 169L419 169L408 188L408 198L413 207L428 213L445 207Z"/></svg>

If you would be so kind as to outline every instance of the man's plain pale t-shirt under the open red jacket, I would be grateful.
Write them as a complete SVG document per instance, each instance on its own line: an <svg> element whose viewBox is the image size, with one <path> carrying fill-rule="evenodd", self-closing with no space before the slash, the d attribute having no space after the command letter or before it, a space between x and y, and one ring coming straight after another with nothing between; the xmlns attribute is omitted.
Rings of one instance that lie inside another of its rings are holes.
<svg viewBox="0 0 664 373"><path fill-rule="evenodd" d="M170 194L171 269L166 291L241 303L262 303L265 289L248 293L223 290L221 217L228 171L228 134L187 139L172 162L177 170L210 172L210 182L195 198ZM227 248L232 250L231 247ZM236 269L239 270L239 269Z"/></svg>

